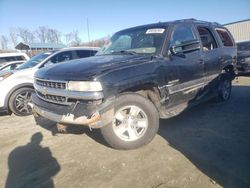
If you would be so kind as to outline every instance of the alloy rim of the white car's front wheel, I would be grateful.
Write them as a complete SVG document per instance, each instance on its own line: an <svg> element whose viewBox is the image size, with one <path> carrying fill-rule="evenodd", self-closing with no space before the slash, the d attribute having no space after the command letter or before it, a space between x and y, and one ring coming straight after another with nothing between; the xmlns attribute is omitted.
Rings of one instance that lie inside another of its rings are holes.
<svg viewBox="0 0 250 188"><path fill-rule="evenodd" d="M31 92L23 91L19 93L15 98L15 108L24 114L31 114L32 106L31 104Z"/></svg>

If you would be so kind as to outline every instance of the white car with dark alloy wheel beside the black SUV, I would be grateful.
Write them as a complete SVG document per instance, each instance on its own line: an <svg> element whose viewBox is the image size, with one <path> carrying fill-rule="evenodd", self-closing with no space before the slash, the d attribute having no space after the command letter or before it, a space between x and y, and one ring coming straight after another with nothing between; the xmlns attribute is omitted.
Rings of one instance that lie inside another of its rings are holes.
<svg viewBox="0 0 250 188"><path fill-rule="evenodd" d="M54 63L93 56L99 48L72 47L44 52L32 57L14 71L0 73L0 111L19 116L32 113L31 94L34 92L34 73Z"/></svg>

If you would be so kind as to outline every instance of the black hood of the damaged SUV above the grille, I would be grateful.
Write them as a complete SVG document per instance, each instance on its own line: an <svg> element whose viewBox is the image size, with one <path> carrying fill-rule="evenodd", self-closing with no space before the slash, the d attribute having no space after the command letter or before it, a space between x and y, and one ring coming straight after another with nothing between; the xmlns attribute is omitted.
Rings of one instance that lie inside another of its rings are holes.
<svg viewBox="0 0 250 188"><path fill-rule="evenodd" d="M48 80L84 81L109 70L122 66L149 61L150 56L139 55L102 55L72 60L48 66L36 72L35 77Z"/></svg>

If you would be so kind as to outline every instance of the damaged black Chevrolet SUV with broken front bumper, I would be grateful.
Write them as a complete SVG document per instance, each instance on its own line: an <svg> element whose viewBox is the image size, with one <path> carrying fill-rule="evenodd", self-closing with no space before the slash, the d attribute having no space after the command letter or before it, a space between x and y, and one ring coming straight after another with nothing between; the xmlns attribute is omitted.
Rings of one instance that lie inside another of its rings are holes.
<svg viewBox="0 0 250 188"><path fill-rule="evenodd" d="M159 118L211 96L229 99L236 47L226 28L178 20L115 33L96 56L53 65L35 75L35 115L101 128L114 148L149 143Z"/></svg>

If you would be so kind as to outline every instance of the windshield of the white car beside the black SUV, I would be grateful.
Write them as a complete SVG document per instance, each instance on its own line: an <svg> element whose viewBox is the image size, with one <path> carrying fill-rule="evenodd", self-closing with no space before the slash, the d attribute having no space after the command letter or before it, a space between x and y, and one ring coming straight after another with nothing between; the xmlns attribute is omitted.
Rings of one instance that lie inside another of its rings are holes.
<svg viewBox="0 0 250 188"><path fill-rule="evenodd" d="M45 53L41 53L38 54L34 57L32 57L29 61L27 61L26 63L22 64L21 66L19 66L17 68L17 70L21 70L21 69L27 69L27 68L31 68L36 66L37 64L41 63L44 59L46 59L48 56L50 56L51 54L53 54L53 52L45 52Z"/></svg>

